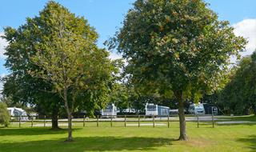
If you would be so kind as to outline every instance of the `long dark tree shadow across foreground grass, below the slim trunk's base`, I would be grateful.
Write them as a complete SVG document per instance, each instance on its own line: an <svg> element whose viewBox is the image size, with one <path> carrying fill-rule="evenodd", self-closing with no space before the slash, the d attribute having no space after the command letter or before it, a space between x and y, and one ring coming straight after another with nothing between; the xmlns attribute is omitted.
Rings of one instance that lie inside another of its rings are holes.
<svg viewBox="0 0 256 152"><path fill-rule="evenodd" d="M171 146L174 138L145 137L74 137L74 142L64 142L66 138L57 140L41 140L31 142L1 143L3 151L114 151L114 150L158 150L161 146ZM33 148L32 148L33 146Z"/></svg>

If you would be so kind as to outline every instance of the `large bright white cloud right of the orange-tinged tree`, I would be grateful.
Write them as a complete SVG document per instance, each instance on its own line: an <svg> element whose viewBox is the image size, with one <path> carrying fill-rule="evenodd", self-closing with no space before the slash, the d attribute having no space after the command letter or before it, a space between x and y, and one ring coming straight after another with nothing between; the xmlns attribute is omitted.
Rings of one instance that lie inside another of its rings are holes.
<svg viewBox="0 0 256 152"><path fill-rule="evenodd" d="M246 46L246 52L242 56L252 54L256 49L256 19L244 19L232 25L234 27L234 34L242 36L249 41Z"/></svg>

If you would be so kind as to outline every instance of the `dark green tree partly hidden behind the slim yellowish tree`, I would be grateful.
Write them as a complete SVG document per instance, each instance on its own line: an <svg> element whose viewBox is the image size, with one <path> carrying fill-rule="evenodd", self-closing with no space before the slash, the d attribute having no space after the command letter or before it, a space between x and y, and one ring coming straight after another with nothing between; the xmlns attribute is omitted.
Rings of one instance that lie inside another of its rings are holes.
<svg viewBox="0 0 256 152"><path fill-rule="evenodd" d="M47 10L47 8L45 8ZM29 62L28 53L35 54L34 42L42 42L43 36L49 36L45 22L47 18L41 16L35 18L26 18L26 24L19 26L17 30L6 26L4 35L9 45L6 46L6 68L10 74L2 78L3 91L2 95L11 97L11 100L23 105L42 105L46 112L52 114L52 129L58 129L58 110L62 98L59 94L51 94L54 86L50 81L42 78L32 78L28 70L38 69ZM39 26L38 30L35 26ZM30 49L28 49L30 47ZM43 90L43 91L42 91Z"/></svg>

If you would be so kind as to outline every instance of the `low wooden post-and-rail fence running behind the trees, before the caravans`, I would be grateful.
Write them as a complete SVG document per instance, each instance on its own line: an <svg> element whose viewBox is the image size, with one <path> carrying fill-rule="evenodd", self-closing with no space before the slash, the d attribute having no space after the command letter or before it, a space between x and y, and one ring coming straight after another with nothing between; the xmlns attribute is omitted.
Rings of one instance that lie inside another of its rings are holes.
<svg viewBox="0 0 256 152"><path fill-rule="evenodd" d="M100 119L99 117L102 116L107 116L110 117L110 119ZM198 115L194 115L194 114L185 114L185 117L187 116L194 116L197 118L197 120L195 121L190 121L190 122L198 122L198 128L199 128L199 116L211 116L211 121L205 121L205 120L201 120L200 122L212 122L212 125L214 127L214 114L198 114ZM26 121L22 121L22 117L27 117L27 116L11 116L11 118L19 118L18 121L17 120L13 120L13 122L19 122L19 127L21 127L21 123L22 122L31 122L31 127L33 127L33 123L34 122L44 122L44 126L46 126L46 122L51 122L51 120L46 120L46 115L41 115L41 116L31 116L31 120L26 120ZM34 120L35 118L43 118L43 120ZM82 120L73 120L72 118L72 122L83 122L83 126L85 126L86 122L97 122L97 126L99 126L99 122L111 122L110 126L113 126L113 122L124 122L124 126L126 126L126 122L138 122L138 127L141 126L141 122L153 122L153 127L155 125L155 122L168 122L168 128L170 127L170 122L178 122L178 120L170 120L170 117L178 117L177 114L169 114L169 115L158 115L158 117L160 117L159 119L155 118L154 115L97 115L96 118L89 120L89 117L86 117L86 115L76 115L75 117L79 118L81 117ZM117 118L118 119L114 119L113 118ZM142 118L146 118L146 117L152 117L152 119L142 119ZM166 117L166 119L162 119L162 117ZM120 119L123 118L123 119ZM132 120L129 120L129 118L134 118ZM138 119L136 119L138 118ZM48 118L51 119L51 118ZM75 118L74 118L75 119ZM58 122L68 122L67 120L60 120L58 119Z"/></svg>

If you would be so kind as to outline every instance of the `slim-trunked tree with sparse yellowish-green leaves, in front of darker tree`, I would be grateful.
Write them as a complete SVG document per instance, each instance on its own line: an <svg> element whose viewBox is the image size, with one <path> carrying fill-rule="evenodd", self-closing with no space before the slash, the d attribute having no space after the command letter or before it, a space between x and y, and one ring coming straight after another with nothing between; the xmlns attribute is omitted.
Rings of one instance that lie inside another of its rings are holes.
<svg viewBox="0 0 256 152"><path fill-rule="evenodd" d="M27 47L37 50L36 54L30 54L30 62L39 67L29 72L34 78L51 82L52 92L62 97L68 115L67 141L73 141L72 113L76 104L82 102L79 96L84 91L94 93L98 87L109 85L113 74L118 73L118 61L111 62L109 52L98 49L98 34L86 19L75 17L66 7L50 1L40 17L50 35L43 35L42 42ZM34 25L35 31L41 28Z"/></svg>

